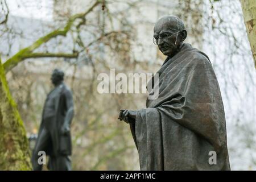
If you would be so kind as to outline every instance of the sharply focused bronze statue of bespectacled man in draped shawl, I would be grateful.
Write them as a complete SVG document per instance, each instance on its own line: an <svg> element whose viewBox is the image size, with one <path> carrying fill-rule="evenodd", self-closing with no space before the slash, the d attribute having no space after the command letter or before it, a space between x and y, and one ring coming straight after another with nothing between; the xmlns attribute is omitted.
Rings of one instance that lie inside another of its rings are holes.
<svg viewBox="0 0 256 182"><path fill-rule="evenodd" d="M156 72L159 97L147 99L146 109L119 113L130 124L141 170L230 170L218 81L208 56L186 38L176 16L156 22L154 43L167 56ZM154 91L154 77L148 84Z"/></svg>

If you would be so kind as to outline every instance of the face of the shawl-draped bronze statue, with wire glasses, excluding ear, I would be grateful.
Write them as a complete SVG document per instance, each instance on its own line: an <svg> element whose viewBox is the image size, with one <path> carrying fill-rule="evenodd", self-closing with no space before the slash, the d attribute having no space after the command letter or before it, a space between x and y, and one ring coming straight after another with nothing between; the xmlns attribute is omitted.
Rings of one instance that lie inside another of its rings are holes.
<svg viewBox="0 0 256 182"><path fill-rule="evenodd" d="M166 56L174 55L183 41L179 33L177 33L176 25L176 19L164 18L158 20L154 27L155 43Z"/></svg>

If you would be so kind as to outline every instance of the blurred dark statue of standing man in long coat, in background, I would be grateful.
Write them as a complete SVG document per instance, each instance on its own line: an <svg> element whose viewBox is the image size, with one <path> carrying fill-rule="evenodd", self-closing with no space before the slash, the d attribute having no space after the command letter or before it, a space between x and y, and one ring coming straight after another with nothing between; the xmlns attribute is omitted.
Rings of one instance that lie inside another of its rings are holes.
<svg viewBox="0 0 256 182"><path fill-rule="evenodd" d="M32 155L34 170L42 170L40 151L49 156L49 170L71 170L72 153L70 125L74 109L71 90L64 84L64 72L54 69L51 77L55 88L44 104L38 139Z"/></svg>

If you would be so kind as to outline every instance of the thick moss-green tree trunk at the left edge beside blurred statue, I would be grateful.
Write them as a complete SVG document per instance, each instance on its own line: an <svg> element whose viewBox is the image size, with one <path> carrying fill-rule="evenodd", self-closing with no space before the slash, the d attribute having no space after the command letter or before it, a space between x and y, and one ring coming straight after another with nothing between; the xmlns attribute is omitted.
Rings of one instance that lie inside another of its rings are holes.
<svg viewBox="0 0 256 182"><path fill-rule="evenodd" d="M26 131L0 60L0 170L30 170Z"/></svg>

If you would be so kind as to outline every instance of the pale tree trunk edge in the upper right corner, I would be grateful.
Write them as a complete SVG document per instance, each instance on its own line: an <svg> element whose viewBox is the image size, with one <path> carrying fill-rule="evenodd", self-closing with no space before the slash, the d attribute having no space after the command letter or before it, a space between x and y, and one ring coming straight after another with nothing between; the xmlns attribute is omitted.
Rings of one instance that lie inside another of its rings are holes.
<svg viewBox="0 0 256 182"><path fill-rule="evenodd" d="M245 20L246 32L253 53L254 65L256 69L256 1L241 0L243 19Z"/></svg>

